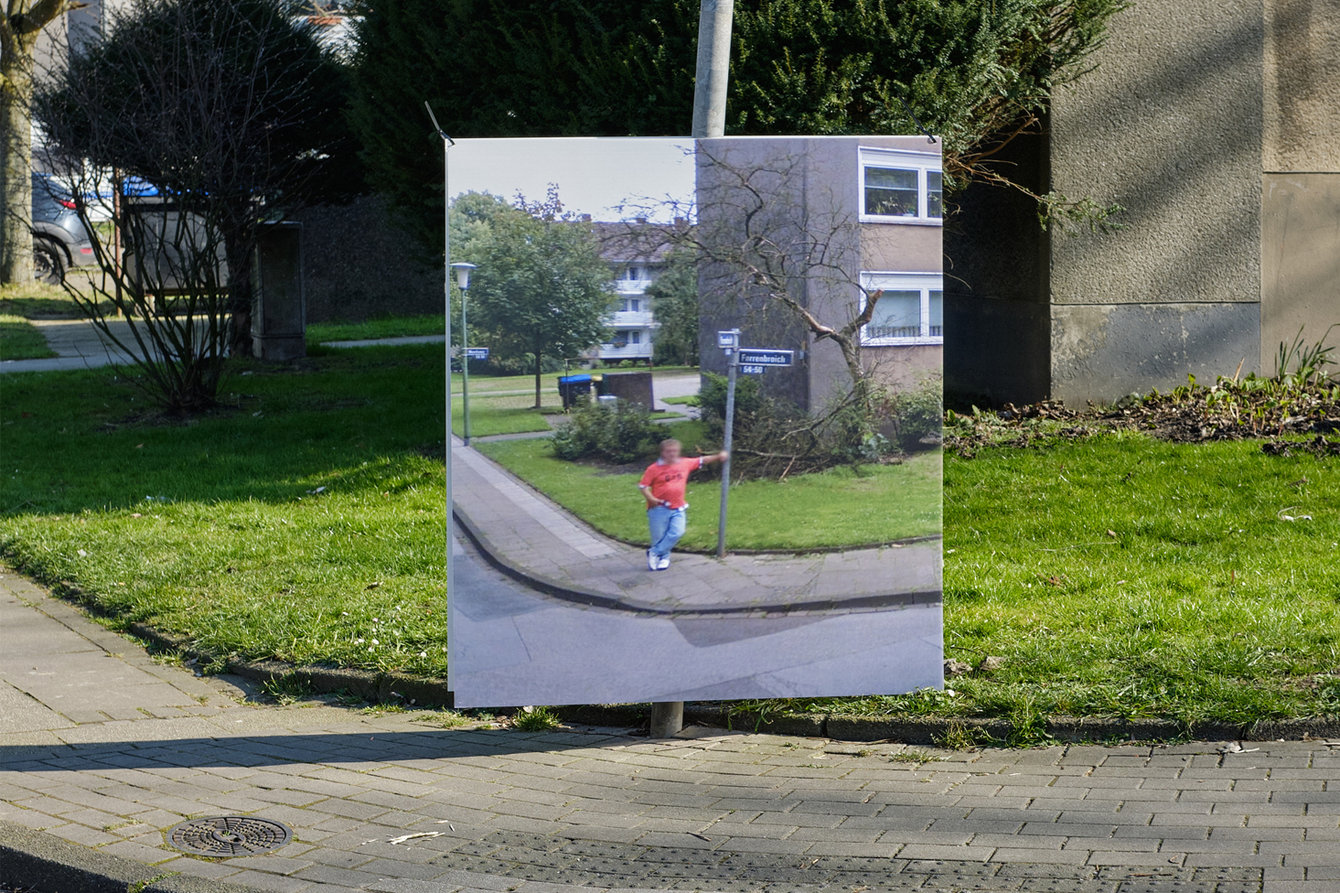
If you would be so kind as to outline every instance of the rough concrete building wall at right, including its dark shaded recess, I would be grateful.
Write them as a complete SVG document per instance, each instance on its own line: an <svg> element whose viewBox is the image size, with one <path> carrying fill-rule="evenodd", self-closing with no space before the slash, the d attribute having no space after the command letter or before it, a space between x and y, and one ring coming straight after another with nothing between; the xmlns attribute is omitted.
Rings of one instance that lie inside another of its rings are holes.
<svg viewBox="0 0 1340 893"><path fill-rule="evenodd" d="M1037 192L1122 204L1122 228L1043 233L967 190L946 233L961 400L1273 373L1281 342L1340 323L1340 0L1140 0L1092 62L1010 161Z"/></svg>

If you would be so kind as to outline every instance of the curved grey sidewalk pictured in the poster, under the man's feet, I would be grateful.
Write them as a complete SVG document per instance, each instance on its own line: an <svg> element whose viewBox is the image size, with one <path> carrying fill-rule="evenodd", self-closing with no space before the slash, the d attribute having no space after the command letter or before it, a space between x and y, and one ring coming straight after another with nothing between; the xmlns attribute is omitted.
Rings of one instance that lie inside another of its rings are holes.
<svg viewBox="0 0 1340 893"><path fill-rule="evenodd" d="M645 550L587 527L484 455L454 440L456 515L490 560L560 598L649 613L788 613L939 602L941 542L811 555L675 554L647 570ZM641 515L628 492L628 511ZM690 508L714 511L712 507Z"/></svg>

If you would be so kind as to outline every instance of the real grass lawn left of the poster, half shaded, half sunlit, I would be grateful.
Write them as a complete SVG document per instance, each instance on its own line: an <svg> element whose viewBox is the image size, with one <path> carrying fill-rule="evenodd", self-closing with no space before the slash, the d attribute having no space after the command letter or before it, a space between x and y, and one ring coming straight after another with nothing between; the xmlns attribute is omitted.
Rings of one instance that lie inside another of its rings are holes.
<svg viewBox="0 0 1340 893"><path fill-rule="evenodd" d="M217 653L440 674L438 357L257 365L189 422L107 371L5 375L0 551Z"/></svg>

